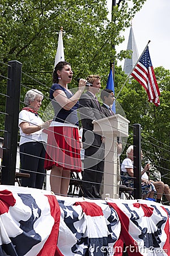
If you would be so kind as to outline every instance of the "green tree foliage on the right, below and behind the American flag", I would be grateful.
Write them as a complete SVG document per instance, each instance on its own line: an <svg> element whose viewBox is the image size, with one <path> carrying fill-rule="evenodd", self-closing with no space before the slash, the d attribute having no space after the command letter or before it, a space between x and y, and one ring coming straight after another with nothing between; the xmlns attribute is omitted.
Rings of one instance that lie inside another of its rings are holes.
<svg viewBox="0 0 170 256"><path fill-rule="evenodd" d="M158 67L155 68L155 76L161 93L160 106L156 107L147 101L145 89L134 79L131 79L131 83L126 83L118 101L130 121L128 143L133 144L132 125L141 124L145 158L150 159L162 175L170 178L170 71ZM170 185L170 179L164 181Z"/></svg>

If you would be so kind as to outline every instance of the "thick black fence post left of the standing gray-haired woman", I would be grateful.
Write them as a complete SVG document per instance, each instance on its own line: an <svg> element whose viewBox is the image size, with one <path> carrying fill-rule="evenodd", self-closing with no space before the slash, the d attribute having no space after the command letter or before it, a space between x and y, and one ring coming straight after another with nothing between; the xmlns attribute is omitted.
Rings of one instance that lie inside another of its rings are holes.
<svg viewBox="0 0 170 256"><path fill-rule="evenodd" d="M15 184L16 154L18 143L18 119L22 63L8 61L6 118L2 158L1 184Z"/></svg>

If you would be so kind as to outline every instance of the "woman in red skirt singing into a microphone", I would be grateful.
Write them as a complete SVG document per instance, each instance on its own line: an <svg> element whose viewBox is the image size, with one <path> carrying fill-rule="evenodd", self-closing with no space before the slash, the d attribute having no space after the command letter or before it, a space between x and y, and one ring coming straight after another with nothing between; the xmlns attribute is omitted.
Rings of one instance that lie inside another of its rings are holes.
<svg viewBox="0 0 170 256"><path fill-rule="evenodd" d="M46 170L50 173L50 186L56 195L67 196L70 170L81 172L80 136L77 109L86 80L80 79L78 91L73 94L68 84L73 77L71 65L60 61L53 72L50 99L54 108L54 119L48 131L46 147Z"/></svg>

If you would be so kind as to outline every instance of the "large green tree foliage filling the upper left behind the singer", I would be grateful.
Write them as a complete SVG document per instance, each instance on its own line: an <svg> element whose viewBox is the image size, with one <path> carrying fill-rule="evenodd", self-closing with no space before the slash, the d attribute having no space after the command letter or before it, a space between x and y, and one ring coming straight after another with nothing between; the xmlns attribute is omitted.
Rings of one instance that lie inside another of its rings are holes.
<svg viewBox="0 0 170 256"><path fill-rule="evenodd" d="M18 60L23 64L21 101L28 89L37 88L45 94L42 109L48 104L61 26L65 60L74 71L71 88L78 85L77 77L87 77L89 73L99 73L105 87L110 61L126 56L125 52L117 55L113 46L124 40L120 32L129 26L145 1L135 0L130 7L130 0L121 1L113 8L111 22L105 0L2 0L0 60L6 64ZM0 73L1 93L6 94L6 65L0 65ZM5 112L5 97L1 111ZM4 120L0 123L1 129Z"/></svg>

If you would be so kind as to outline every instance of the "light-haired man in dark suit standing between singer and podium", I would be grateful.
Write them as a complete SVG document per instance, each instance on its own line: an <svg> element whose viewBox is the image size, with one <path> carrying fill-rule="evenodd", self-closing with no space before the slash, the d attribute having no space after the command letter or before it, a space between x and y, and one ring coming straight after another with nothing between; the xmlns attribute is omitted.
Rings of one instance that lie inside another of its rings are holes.
<svg viewBox="0 0 170 256"><path fill-rule="evenodd" d="M84 171L82 176L83 196L101 198L100 184L104 171L104 147L102 137L93 132L92 121L103 118L103 113L96 94L100 92L100 76L90 75L87 81L92 86L87 87L87 92L79 100L79 113L83 127Z"/></svg>

